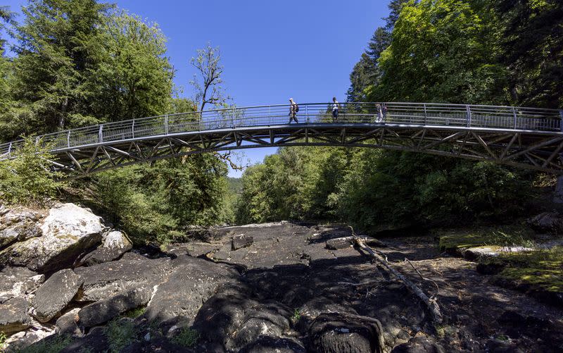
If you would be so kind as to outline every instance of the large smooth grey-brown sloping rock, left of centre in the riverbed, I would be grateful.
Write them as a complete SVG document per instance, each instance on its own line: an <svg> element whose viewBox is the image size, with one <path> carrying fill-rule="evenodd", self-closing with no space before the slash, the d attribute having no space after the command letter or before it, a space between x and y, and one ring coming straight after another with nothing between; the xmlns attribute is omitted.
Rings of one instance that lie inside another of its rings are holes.
<svg viewBox="0 0 563 353"><path fill-rule="evenodd" d="M146 308L145 315L151 321L176 316L193 318L220 285L239 275L227 265L185 255L172 260L172 266L174 269Z"/></svg>

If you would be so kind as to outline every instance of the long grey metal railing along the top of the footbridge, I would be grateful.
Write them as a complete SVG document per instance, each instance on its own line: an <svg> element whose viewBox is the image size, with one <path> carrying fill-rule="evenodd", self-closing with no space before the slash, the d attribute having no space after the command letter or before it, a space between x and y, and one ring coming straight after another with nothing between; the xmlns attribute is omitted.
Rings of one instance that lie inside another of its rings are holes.
<svg viewBox="0 0 563 353"><path fill-rule="evenodd" d="M408 124L562 132L563 111L513 106L436 103L341 103L339 120L331 103L299 104L300 124ZM168 114L54 132L37 137L59 149L193 131L286 125L289 105L251 106ZM0 144L0 159L10 158L23 140Z"/></svg>

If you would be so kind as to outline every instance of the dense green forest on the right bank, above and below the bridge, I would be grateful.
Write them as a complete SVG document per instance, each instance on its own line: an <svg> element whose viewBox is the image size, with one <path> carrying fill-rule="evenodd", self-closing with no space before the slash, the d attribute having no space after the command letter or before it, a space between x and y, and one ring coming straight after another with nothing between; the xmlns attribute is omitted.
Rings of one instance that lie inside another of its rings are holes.
<svg viewBox="0 0 563 353"><path fill-rule="evenodd" d="M563 3L393 0L350 73L348 101L562 108ZM524 211L534 173L398 151L280 149L243 175L237 218L378 225Z"/></svg>

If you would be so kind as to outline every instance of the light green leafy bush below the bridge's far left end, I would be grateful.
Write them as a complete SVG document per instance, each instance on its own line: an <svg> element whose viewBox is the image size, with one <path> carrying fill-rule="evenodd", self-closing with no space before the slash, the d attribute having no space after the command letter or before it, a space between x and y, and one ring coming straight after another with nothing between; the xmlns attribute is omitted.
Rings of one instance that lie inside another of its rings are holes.
<svg viewBox="0 0 563 353"><path fill-rule="evenodd" d="M58 173L49 171L49 144L24 137L13 159L0 161L0 199L8 204L44 204L58 187Z"/></svg>

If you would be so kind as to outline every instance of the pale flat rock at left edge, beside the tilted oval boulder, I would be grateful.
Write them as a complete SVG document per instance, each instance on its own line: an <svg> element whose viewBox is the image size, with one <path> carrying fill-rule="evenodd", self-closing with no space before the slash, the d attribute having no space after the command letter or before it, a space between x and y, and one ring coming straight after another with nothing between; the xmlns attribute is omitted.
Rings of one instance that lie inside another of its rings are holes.
<svg viewBox="0 0 563 353"><path fill-rule="evenodd" d="M0 303L36 290L44 280L44 275L39 275L25 267L3 268L0 271Z"/></svg>

